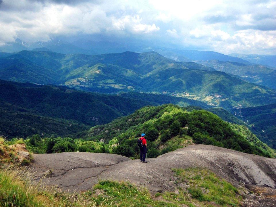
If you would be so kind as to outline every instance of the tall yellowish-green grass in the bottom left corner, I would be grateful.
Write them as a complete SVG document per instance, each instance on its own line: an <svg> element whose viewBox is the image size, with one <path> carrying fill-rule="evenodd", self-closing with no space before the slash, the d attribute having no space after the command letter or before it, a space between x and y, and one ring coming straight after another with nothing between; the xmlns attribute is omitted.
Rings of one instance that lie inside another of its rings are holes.
<svg viewBox="0 0 276 207"><path fill-rule="evenodd" d="M21 170L0 171L1 207L94 207L94 198L79 193L61 193L54 188L31 185Z"/></svg>

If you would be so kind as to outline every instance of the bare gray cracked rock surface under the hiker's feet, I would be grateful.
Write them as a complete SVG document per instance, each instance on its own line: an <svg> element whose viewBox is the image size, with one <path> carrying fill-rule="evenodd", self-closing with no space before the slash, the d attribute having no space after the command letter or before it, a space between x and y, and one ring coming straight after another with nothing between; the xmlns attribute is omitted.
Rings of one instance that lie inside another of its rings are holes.
<svg viewBox="0 0 276 207"><path fill-rule="evenodd" d="M245 154L211 145L190 145L148 163L130 160L114 154L66 152L34 154L31 164L38 181L43 173L52 170L50 177L42 178L48 185L64 190L87 190L99 180L129 181L146 186L150 191L175 189L171 168L206 167L233 185L239 183L276 188L276 159Z"/></svg>

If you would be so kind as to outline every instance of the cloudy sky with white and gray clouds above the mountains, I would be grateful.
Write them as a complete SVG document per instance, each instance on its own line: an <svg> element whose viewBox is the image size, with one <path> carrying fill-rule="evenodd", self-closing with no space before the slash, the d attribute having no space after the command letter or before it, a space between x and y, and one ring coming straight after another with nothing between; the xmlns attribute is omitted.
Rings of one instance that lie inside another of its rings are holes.
<svg viewBox="0 0 276 207"><path fill-rule="evenodd" d="M224 54L276 54L276 0L0 0L0 45L102 35Z"/></svg>

